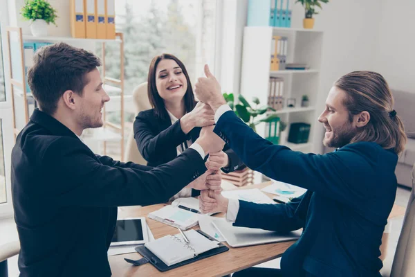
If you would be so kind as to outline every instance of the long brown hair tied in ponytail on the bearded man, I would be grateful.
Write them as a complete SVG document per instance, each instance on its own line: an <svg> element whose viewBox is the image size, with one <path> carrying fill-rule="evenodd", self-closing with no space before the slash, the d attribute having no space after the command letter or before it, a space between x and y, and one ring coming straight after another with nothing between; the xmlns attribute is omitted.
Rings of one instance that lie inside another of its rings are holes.
<svg viewBox="0 0 415 277"><path fill-rule="evenodd" d="M343 104L351 118L362 111L370 114L369 123L351 139L351 143L371 141L382 148L393 149L396 154L403 151L407 137L382 75L372 71L353 71L335 81L334 86L347 93Z"/></svg>

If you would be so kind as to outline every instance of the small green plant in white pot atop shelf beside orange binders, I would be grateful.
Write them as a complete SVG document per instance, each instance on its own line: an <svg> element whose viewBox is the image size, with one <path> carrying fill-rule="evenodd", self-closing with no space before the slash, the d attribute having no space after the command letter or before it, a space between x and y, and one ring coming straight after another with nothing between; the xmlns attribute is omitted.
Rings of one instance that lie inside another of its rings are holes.
<svg viewBox="0 0 415 277"><path fill-rule="evenodd" d="M46 0L26 0L21 8L21 15L24 19L30 20L30 30L34 37L48 35L48 24L56 26L56 10Z"/></svg>

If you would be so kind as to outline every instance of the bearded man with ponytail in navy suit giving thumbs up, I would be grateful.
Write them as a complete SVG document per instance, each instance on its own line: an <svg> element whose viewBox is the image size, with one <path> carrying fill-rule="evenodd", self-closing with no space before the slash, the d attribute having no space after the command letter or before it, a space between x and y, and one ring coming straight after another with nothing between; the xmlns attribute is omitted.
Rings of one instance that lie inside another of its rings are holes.
<svg viewBox="0 0 415 277"><path fill-rule="evenodd" d="M281 269L252 267L234 276L379 276L379 247L396 195L395 167L406 136L386 80L371 71L339 78L319 117L328 154L304 154L273 145L226 105L208 67L196 96L215 111L214 132L243 163L264 175L306 188L287 204L255 204L201 193L201 210L227 213L234 226L288 232L303 229L286 250ZM215 202L212 202L212 200Z"/></svg>

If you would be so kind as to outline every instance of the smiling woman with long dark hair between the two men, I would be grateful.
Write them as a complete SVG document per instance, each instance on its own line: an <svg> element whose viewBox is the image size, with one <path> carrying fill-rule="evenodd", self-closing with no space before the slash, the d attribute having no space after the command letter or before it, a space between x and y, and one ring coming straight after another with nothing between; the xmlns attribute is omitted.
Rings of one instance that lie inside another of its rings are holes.
<svg viewBox="0 0 415 277"><path fill-rule="evenodd" d="M134 139L148 166L159 166L176 158L199 137L201 127L214 124L209 105L194 100L192 84L185 65L171 54L151 60L148 97L153 109L141 111L134 121ZM208 153L206 153L208 154ZM225 145L223 151L210 153L209 170L231 172L243 163ZM175 197L197 195L183 188Z"/></svg>

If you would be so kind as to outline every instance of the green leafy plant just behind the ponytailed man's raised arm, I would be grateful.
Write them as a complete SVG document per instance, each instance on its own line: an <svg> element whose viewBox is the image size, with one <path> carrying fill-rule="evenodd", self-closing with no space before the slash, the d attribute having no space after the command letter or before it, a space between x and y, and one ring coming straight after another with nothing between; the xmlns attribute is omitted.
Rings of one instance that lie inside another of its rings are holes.
<svg viewBox="0 0 415 277"><path fill-rule="evenodd" d="M252 102L255 103L255 108L253 108L248 101L239 94L239 104L234 105L234 95L233 93L223 93L223 97L225 98L226 102L228 102L228 105L231 109L243 120L243 122L247 123L249 127L254 129L255 132L257 132L257 129L255 128L256 125L258 125L261 122L271 122L273 118L277 117L276 114L270 114L269 116L266 116L265 118L262 118L261 120L256 120L257 116L263 115L266 113L266 111L271 110L275 111L272 107L269 106L261 106L258 107L260 104L259 99L257 97L252 98Z"/></svg>

